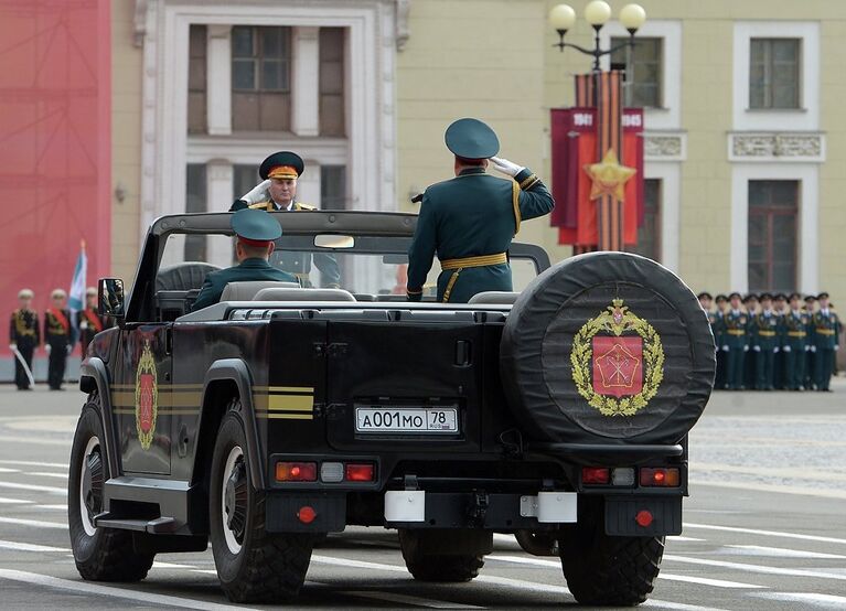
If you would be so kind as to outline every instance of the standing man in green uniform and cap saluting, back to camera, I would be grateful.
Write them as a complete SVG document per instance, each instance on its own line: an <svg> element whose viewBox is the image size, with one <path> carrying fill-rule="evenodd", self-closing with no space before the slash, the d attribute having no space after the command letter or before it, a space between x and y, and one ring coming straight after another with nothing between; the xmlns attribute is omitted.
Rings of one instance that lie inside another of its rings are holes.
<svg viewBox="0 0 846 611"><path fill-rule="evenodd" d="M445 140L456 156L456 178L424 193L408 249L408 299L422 298L436 253L441 267L438 301L465 303L479 292L511 291L511 240L522 219L553 210L553 196L531 170L494 157L500 141L482 121L459 119ZM485 173L489 159L512 180Z"/></svg>

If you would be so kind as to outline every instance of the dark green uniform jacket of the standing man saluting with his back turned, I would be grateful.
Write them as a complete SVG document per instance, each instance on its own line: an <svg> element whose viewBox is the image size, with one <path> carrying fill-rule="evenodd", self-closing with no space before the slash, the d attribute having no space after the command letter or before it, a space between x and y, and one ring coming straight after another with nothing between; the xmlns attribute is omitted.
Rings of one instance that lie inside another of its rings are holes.
<svg viewBox="0 0 846 611"><path fill-rule="evenodd" d="M554 206L549 191L527 169L512 181L472 168L429 186L408 249L408 298L419 301L422 297L436 254L445 261L507 253L521 221L548 214ZM438 301L445 300L457 272L449 296L452 302L467 302L482 291L512 290L507 262L443 270L438 277Z"/></svg>

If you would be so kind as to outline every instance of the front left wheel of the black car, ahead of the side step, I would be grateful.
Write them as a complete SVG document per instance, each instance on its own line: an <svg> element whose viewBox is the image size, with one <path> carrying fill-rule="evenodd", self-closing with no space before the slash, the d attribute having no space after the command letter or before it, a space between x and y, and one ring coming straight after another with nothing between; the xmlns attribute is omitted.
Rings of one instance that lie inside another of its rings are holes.
<svg viewBox="0 0 846 611"><path fill-rule="evenodd" d="M97 395L89 396L71 450L67 523L74 561L82 578L89 581L139 581L147 577L156 555L136 553L128 530L95 528L92 524L92 517L103 511L103 484L108 471L99 409Z"/></svg>

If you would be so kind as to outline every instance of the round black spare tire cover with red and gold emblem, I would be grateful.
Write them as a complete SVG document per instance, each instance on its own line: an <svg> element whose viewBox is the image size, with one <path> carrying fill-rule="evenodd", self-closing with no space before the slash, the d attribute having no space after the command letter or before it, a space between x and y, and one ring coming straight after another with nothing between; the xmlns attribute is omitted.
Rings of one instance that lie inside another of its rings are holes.
<svg viewBox="0 0 846 611"><path fill-rule="evenodd" d="M512 308L503 387L532 438L676 443L708 403L714 336L672 271L627 253L590 253L538 276Z"/></svg>

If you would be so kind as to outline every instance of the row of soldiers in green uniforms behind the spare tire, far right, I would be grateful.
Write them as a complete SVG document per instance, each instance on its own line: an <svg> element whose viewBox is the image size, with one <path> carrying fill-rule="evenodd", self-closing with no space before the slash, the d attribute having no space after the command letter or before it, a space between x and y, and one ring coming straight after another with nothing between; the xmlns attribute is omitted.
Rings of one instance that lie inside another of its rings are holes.
<svg viewBox="0 0 846 611"><path fill-rule="evenodd" d="M715 388L831 389L840 321L827 292L698 297L717 346Z"/></svg>

